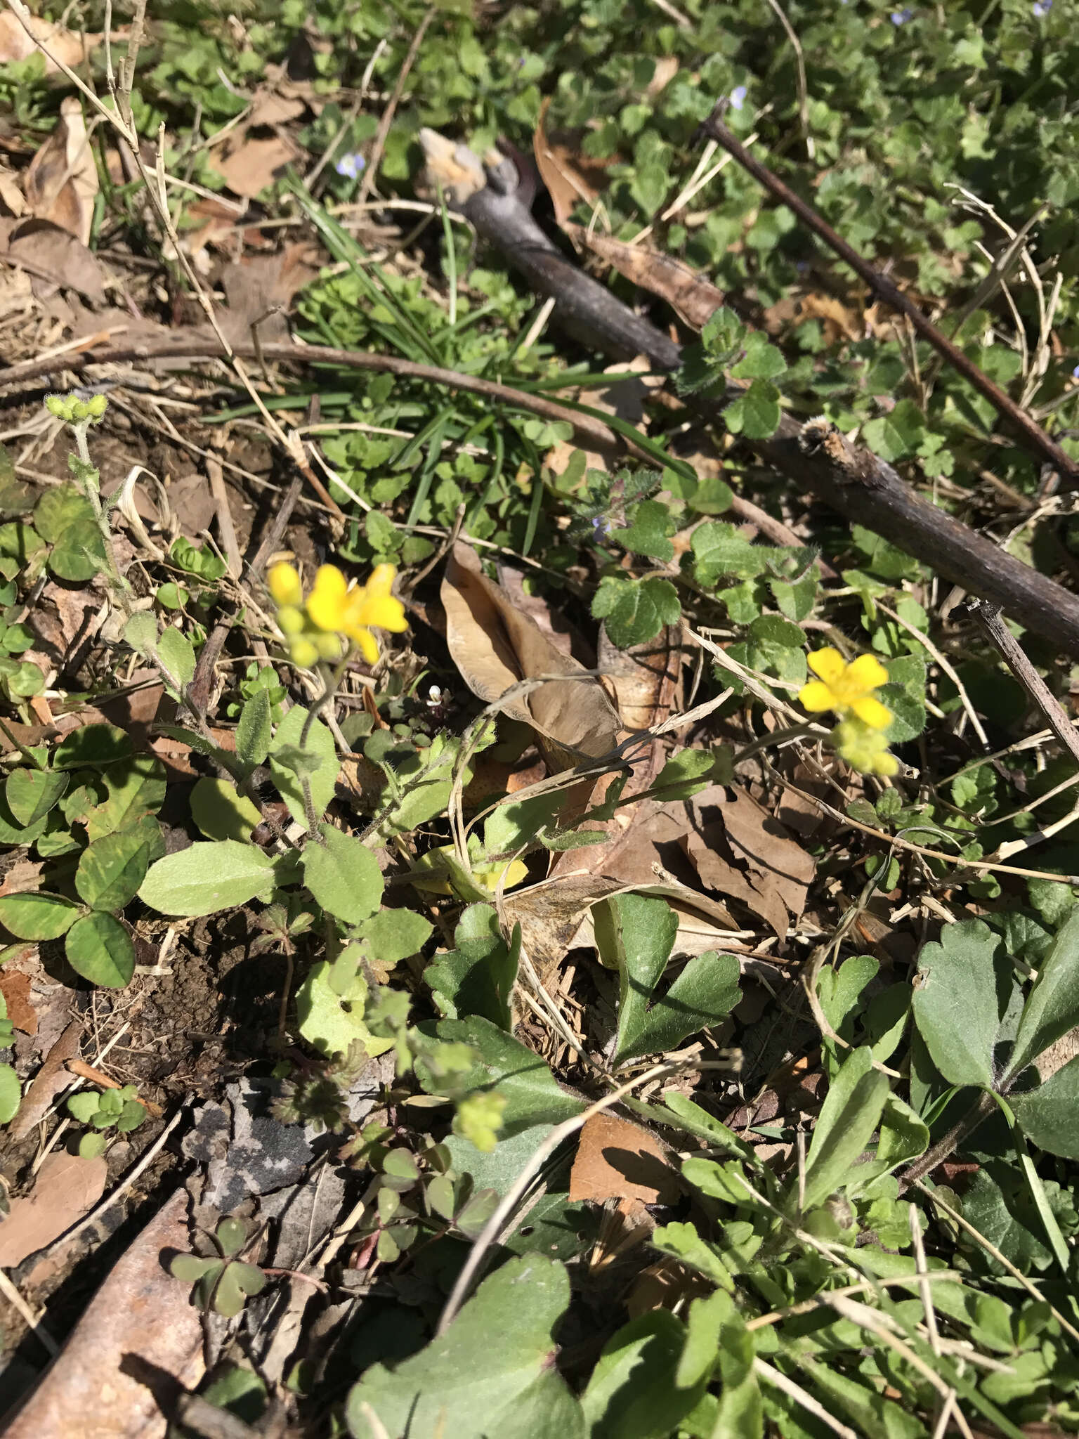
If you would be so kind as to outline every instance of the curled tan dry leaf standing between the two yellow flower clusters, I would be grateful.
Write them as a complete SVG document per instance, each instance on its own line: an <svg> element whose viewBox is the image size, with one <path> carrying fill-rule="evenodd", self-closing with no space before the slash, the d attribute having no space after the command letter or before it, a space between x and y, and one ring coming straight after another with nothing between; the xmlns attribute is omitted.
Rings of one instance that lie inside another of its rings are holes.
<svg viewBox="0 0 1079 1439"><path fill-rule="evenodd" d="M581 675L583 665L548 639L481 570L469 545L457 541L442 581L446 643L473 695L501 699L522 679ZM552 768L564 770L583 755L606 754L617 743L620 720L598 681L551 679L531 694L508 699L502 712L535 730Z"/></svg>

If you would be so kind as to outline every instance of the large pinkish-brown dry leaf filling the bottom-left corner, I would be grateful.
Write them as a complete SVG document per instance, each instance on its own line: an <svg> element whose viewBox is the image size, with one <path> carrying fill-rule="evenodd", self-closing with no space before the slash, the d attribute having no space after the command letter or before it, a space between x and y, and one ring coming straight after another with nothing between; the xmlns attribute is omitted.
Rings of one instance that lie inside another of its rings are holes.
<svg viewBox="0 0 1079 1439"><path fill-rule="evenodd" d="M75 1163L105 1166L104 1160ZM59 1361L4 1430L4 1439L164 1435L161 1381L171 1393L177 1384L194 1387L203 1374L199 1311L188 1288L163 1263L170 1250L190 1248L187 1194L178 1189L109 1271Z"/></svg>

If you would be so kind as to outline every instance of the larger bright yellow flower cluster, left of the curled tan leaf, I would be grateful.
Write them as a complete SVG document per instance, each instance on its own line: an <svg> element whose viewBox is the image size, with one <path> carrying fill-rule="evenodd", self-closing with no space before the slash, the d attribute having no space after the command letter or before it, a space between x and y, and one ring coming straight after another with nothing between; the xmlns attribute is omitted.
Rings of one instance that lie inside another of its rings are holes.
<svg viewBox="0 0 1079 1439"><path fill-rule="evenodd" d="M278 626L288 639L293 665L309 669L319 659L340 659L354 643L368 665L378 659L374 626L400 635L407 629L404 606L391 594L397 570L378 564L367 584L348 584L335 564L324 564L304 599L304 586L291 564L275 564L266 577L278 606Z"/></svg>

